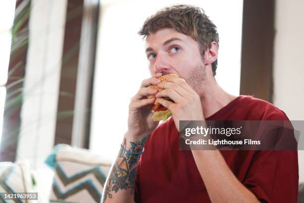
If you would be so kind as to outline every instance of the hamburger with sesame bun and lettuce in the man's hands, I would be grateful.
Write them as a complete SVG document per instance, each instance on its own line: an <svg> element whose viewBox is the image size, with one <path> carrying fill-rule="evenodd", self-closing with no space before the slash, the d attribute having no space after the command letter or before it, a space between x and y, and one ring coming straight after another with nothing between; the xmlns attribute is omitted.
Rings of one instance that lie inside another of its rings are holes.
<svg viewBox="0 0 304 203"><path fill-rule="evenodd" d="M158 79L161 82L164 82L164 81L167 81L167 78L169 78L169 77L179 78L178 75L176 75L176 74L167 74L167 75L160 76ZM155 88L158 90L158 92L163 91L163 89L157 87L156 85L150 85L148 88ZM154 98L154 97L155 97L154 95L147 96L148 99ZM169 98L164 98L164 99L173 102ZM152 119L154 121L166 120L166 119L168 119L168 117L171 116L171 111L169 109L167 109L166 107L164 107L163 105L161 105L160 103L158 103L156 100L152 104L152 112L153 112Z"/></svg>

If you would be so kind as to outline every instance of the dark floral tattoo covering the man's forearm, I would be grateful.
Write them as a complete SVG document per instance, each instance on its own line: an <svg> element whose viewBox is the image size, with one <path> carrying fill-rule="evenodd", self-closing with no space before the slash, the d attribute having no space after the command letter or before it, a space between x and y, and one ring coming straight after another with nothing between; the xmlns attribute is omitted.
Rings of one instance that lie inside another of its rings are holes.
<svg viewBox="0 0 304 203"><path fill-rule="evenodd" d="M130 142L131 148L129 151L140 153L143 151L146 140L149 136L142 140ZM126 148L126 138L124 139L123 147ZM105 191L103 194L102 203L108 198L113 197L113 191L117 193L119 190L131 189L131 195L134 195L135 177L137 172L137 163L141 155L134 155L120 149L118 157L113 165L112 171L109 175Z"/></svg>

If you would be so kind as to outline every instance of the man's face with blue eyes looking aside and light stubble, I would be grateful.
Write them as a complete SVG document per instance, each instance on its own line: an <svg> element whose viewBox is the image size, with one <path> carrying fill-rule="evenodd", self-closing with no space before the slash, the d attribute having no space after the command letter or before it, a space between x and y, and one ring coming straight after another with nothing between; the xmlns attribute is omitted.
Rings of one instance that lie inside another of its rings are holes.
<svg viewBox="0 0 304 203"><path fill-rule="evenodd" d="M199 44L194 39L174 29L165 28L147 36L146 43L151 74L178 74L199 95L202 94L206 69Z"/></svg>

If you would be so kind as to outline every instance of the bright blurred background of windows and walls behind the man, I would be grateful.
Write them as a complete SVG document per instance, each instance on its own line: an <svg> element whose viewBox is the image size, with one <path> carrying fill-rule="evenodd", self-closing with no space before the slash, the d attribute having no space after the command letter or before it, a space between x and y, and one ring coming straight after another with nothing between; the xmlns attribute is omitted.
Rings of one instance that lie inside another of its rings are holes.
<svg viewBox="0 0 304 203"><path fill-rule="evenodd" d="M113 161L128 105L149 77L145 19L174 3L202 7L220 35L218 83L304 120L302 0L0 1L0 161L27 160L51 188L55 145ZM299 151L304 182L304 152ZM38 181L38 182L39 182Z"/></svg>

